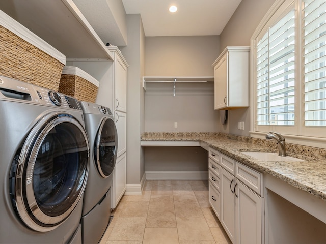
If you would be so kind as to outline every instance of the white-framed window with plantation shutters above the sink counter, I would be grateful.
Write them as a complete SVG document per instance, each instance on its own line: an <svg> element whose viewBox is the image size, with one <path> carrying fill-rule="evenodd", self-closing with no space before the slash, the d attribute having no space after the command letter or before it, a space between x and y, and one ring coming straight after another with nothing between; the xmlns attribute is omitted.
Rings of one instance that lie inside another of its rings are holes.
<svg viewBox="0 0 326 244"><path fill-rule="evenodd" d="M251 40L252 136L326 137L326 0L276 1Z"/></svg>

